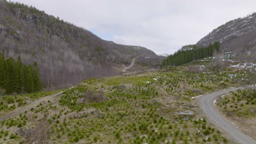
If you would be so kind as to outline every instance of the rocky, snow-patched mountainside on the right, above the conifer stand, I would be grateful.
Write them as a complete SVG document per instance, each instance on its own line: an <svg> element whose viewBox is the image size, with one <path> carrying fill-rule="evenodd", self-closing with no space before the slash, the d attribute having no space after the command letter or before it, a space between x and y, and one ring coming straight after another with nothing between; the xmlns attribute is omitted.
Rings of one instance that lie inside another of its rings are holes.
<svg viewBox="0 0 256 144"><path fill-rule="evenodd" d="M199 40L196 46L207 46L214 41L219 41L222 53L255 62L256 13L226 22Z"/></svg>

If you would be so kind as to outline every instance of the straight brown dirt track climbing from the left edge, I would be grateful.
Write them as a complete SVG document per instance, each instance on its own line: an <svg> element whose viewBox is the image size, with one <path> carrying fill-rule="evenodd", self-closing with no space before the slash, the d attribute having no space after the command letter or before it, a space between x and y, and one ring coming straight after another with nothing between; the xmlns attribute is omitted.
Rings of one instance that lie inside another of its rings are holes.
<svg viewBox="0 0 256 144"><path fill-rule="evenodd" d="M15 110L7 113L5 116L1 117L0 122L5 121L6 119L9 119L9 118L14 117L16 115L19 115L22 112L29 111L32 107L36 107L37 105L39 105L43 101L48 101L48 100L53 101L57 95L60 95L62 93L63 93L63 91L58 92L58 93L53 94L53 95L48 95L46 97L42 97L38 100L33 101L31 104L19 107L18 109L15 109Z"/></svg>

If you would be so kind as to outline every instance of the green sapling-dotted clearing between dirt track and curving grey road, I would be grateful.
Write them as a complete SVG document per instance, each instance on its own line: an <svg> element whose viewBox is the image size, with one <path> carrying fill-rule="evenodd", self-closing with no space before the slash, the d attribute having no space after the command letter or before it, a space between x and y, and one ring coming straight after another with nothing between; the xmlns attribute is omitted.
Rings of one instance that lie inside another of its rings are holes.
<svg viewBox="0 0 256 144"><path fill-rule="evenodd" d="M1 122L0 142L232 143L206 121L193 97L250 84L255 70L205 68L195 73L189 67L173 67L83 81ZM33 99L27 97L20 100L24 105ZM8 105L7 99L1 99L2 105ZM12 111L7 109L4 115Z"/></svg>

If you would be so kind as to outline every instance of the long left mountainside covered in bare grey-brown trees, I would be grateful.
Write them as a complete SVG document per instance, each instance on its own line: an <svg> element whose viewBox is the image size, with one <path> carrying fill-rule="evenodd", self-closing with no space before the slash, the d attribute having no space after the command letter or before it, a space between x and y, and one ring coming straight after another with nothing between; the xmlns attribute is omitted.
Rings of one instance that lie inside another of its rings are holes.
<svg viewBox="0 0 256 144"><path fill-rule="evenodd" d="M145 47L102 40L84 28L34 7L0 0L0 52L38 63L44 87L68 87L91 77L118 74L137 56L161 59ZM150 64L150 63L148 63Z"/></svg>

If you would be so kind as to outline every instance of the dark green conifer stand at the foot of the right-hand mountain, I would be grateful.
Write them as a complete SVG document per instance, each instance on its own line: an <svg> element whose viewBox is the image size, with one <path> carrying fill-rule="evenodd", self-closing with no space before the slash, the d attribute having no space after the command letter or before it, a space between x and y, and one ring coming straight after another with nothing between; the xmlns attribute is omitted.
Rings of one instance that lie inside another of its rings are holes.
<svg viewBox="0 0 256 144"><path fill-rule="evenodd" d="M165 67L167 65L178 66L197 59L212 57L213 53L216 51L219 51L218 41L214 44L210 44L208 47L196 47L192 50L178 50L173 55L168 56L164 61L162 61L161 67Z"/></svg>

